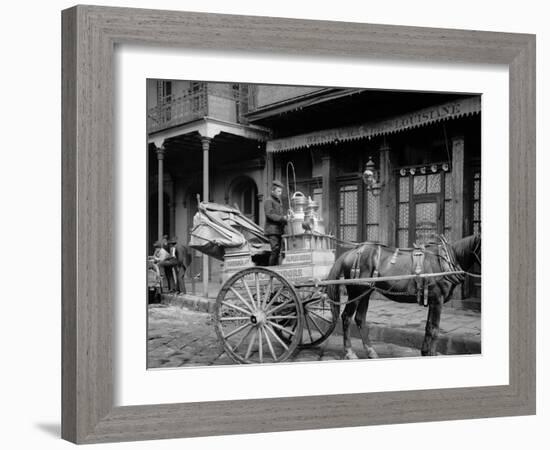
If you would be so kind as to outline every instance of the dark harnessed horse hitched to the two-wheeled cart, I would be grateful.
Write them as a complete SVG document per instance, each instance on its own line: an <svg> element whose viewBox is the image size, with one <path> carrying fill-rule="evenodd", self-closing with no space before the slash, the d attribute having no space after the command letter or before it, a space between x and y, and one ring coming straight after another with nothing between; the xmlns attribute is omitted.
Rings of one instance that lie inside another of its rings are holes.
<svg viewBox="0 0 550 450"><path fill-rule="evenodd" d="M443 304L449 301L456 286L464 281L463 271L470 270L476 262L481 265L481 237L478 235L467 236L453 244L449 244L443 236L439 236L438 242L412 249L364 243L342 254L332 266L328 280L338 280L342 275L345 279L397 276L396 280L375 281L365 285L345 285L349 299L341 314L345 358L358 358L351 347L349 332L354 314L367 357L378 357L369 340L366 323L369 298L374 291L381 292L388 299L397 302L419 302L428 306L421 354L435 356ZM442 272L447 274L438 277L410 277L410 275ZM409 277L398 278L403 275L409 275ZM340 304L339 285L329 285L327 295L335 305Z"/></svg>

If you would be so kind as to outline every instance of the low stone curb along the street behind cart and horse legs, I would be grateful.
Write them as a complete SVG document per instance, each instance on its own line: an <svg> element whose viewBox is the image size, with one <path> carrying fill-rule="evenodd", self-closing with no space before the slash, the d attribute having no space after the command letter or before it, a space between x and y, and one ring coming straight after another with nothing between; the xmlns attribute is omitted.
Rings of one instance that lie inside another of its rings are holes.
<svg viewBox="0 0 550 450"><path fill-rule="evenodd" d="M191 294L162 294L161 298L161 303L165 305L173 305L206 313L214 312L215 299L213 298L204 298ZM334 333L342 335L341 322L338 322ZM357 327L351 326L350 333L352 337L361 339ZM424 330L389 327L371 322L369 323L369 337L373 341L420 350L422 342L424 341ZM437 341L437 352L443 355L480 354L481 341L478 338L465 336L463 334L441 334Z"/></svg>

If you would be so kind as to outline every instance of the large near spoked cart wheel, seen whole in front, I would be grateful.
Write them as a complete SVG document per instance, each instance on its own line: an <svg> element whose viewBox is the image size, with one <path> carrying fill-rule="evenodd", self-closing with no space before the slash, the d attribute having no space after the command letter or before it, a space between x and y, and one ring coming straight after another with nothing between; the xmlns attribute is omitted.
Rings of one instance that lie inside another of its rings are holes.
<svg viewBox="0 0 550 450"><path fill-rule="evenodd" d="M239 363L288 359L302 338L302 305L294 287L264 267L237 272L222 286L214 309L216 334Z"/></svg>

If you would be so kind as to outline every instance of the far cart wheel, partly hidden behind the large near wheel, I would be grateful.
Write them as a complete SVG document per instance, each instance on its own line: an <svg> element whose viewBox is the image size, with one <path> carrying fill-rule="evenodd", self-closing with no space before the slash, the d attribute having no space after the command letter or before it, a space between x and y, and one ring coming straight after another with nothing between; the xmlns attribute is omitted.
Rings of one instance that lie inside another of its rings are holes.
<svg viewBox="0 0 550 450"><path fill-rule="evenodd" d="M336 328L340 308L331 302L323 288L298 290L304 310L304 327L300 348L315 347L324 342Z"/></svg>

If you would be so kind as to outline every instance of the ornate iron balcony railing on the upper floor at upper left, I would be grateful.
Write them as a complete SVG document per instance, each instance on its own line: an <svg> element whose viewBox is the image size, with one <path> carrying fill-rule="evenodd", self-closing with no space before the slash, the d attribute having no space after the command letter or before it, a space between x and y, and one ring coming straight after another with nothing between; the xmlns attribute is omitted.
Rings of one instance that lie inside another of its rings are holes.
<svg viewBox="0 0 550 450"><path fill-rule="evenodd" d="M246 123L244 114L250 107L247 85L201 83L182 95L168 95L148 110L147 131L154 133L182 125L204 116L234 123Z"/></svg>

